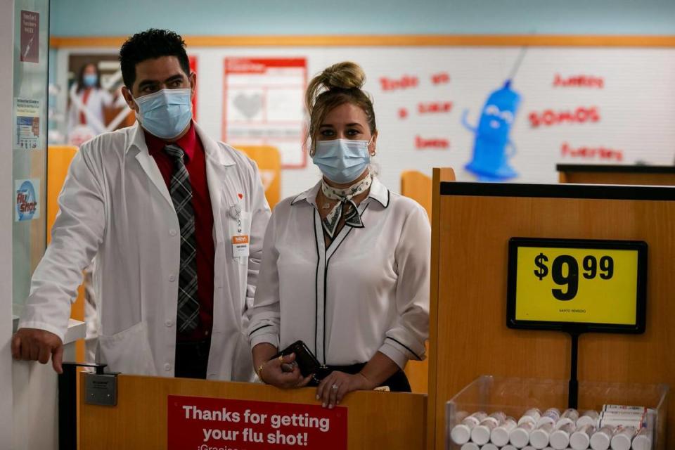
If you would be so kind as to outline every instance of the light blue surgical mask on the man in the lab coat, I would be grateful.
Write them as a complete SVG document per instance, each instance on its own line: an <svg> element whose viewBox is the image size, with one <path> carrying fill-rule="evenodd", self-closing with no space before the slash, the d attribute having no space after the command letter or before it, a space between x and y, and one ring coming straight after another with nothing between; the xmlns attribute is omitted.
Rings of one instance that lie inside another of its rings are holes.
<svg viewBox="0 0 675 450"><path fill-rule="evenodd" d="M136 117L150 134L161 139L173 139L192 120L191 89L162 89L135 98L139 105Z"/></svg>

